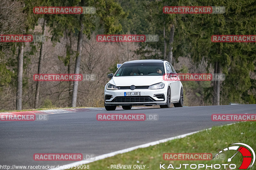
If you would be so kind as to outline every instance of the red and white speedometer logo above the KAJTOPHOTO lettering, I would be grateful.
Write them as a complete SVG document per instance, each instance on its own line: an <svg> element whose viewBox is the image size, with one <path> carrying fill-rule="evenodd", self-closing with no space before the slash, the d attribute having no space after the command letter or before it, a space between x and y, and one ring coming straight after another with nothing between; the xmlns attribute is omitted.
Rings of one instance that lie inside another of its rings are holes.
<svg viewBox="0 0 256 170"><path fill-rule="evenodd" d="M243 162L241 164L241 166L239 167L239 169L247 169L249 167L249 169L252 167L252 165L254 164L255 162L255 152L254 150L252 149L251 146L247 145L247 144L244 144L244 143L234 143L234 144L231 144L231 145L236 145L236 146L229 146L227 148L224 148L222 149L219 153L221 152L226 152L226 151L229 151L229 150L235 150L237 151L232 157L228 158L228 162L231 162L232 161L232 158L234 158L234 156L236 156L236 154L238 152L240 152L243 156ZM241 146L243 145L243 146ZM246 146L247 148L245 148L244 146ZM219 153L217 153L213 159L219 155ZM252 162L252 164L251 164Z"/></svg>

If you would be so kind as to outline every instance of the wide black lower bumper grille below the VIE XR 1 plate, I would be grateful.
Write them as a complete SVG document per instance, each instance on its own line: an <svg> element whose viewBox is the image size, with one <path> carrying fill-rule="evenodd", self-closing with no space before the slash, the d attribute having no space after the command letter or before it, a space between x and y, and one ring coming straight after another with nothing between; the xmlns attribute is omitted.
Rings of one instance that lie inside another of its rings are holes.
<svg viewBox="0 0 256 170"><path fill-rule="evenodd" d="M117 96L111 102L113 103L134 103L134 102L154 102L150 96Z"/></svg>

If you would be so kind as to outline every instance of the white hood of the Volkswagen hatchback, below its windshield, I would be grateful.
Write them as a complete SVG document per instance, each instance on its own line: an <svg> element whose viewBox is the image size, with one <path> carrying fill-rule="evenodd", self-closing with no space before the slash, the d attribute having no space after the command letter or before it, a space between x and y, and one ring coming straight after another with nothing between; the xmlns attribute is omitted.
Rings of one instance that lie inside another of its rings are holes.
<svg viewBox="0 0 256 170"><path fill-rule="evenodd" d="M150 86L163 81L163 76L161 75L138 75L138 76L122 76L113 77L108 83L115 86Z"/></svg>

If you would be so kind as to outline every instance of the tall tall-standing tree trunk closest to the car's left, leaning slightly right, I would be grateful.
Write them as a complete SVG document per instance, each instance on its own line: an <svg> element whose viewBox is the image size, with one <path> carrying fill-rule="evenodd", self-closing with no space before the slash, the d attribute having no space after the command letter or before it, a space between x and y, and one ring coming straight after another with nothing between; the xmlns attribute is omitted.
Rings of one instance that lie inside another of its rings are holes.
<svg viewBox="0 0 256 170"><path fill-rule="evenodd" d="M81 2L83 3L83 0ZM83 24L84 15L80 15L80 31L78 34L78 43L77 43L77 51L76 51L76 66L75 66L75 74L79 74L80 69L80 61L81 61L81 53L82 53L82 40L83 40ZM78 89L78 81L74 81L73 93L72 93L72 107L76 107L76 99L77 99L77 89Z"/></svg>

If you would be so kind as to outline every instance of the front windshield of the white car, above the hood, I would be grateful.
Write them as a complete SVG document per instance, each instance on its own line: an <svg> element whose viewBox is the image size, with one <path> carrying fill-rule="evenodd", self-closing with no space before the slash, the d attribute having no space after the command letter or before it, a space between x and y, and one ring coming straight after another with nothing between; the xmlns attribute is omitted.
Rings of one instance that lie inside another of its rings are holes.
<svg viewBox="0 0 256 170"><path fill-rule="evenodd" d="M130 63L123 64L115 76L135 76L135 75L163 75L163 63Z"/></svg>

